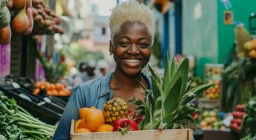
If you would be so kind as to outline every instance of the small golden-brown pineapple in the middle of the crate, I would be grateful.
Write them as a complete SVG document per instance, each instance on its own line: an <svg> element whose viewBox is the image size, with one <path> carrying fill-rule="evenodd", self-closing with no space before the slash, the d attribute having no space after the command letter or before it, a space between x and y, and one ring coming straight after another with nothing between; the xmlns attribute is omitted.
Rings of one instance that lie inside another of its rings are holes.
<svg viewBox="0 0 256 140"><path fill-rule="evenodd" d="M103 115L105 121L112 125L114 120L126 118L128 115L128 104L121 98L111 99L104 104Z"/></svg>

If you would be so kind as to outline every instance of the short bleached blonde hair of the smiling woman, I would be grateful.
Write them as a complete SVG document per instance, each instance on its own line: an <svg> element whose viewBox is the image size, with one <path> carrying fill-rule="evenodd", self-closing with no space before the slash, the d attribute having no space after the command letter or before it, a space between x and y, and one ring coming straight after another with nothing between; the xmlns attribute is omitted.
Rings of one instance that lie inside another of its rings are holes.
<svg viewBox="0 0 256 140"><path fill-rule="evenodd" d="M140 22L147 27L151 35L151 44L154 42L154 17L149 6L135 0L117 4L109 18L111 42L114 43L114 36L120 31L123 23Z"/></svg>

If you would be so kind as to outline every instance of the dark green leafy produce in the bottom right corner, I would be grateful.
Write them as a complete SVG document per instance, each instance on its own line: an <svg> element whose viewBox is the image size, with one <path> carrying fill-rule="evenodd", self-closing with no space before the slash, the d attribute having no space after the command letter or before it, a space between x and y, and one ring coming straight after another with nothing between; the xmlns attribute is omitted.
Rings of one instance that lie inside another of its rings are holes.
<svg viewBox="0 0 256 140"><path fill-rule="evenodd" d="M246 136L241 140L256 139L256 97L250 99L245 106L245 117L243 118L242 129L246 130Z"/></svg>

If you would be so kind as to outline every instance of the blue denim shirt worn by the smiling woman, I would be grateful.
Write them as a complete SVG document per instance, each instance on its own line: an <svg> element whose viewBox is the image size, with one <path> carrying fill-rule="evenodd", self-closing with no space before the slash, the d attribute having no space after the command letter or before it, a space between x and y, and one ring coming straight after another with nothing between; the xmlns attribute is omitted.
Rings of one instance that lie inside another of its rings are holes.
<svg viewBox="0 0 256 140"><path fill-rule="evenodd" d="M146 79L149 89L152 90L151 79L142 73ZM60 118L60 123L53 136L53 139L70 139L71 120L79 120L79 109L82 107L95 106L97 109L103 109L103 105L109 99L112 99L112 90L110 89L110 80L112 73L107 76L89 80L74 89L73 94L67 102L65 111Z"/></svg>

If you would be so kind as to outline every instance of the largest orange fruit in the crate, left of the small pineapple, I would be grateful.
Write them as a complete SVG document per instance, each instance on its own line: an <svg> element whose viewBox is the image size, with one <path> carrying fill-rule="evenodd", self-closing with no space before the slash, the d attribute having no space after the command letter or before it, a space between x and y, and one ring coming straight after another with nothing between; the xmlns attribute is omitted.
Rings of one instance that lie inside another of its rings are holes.
<svg viewBox="0 0 256 140"><path fill-rule="evenodd" d="M105 124L105 118L100 109L95 107L79 109L81 121L78 128L88 128L91 132L96 132L97 128Z"/></svg>

